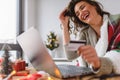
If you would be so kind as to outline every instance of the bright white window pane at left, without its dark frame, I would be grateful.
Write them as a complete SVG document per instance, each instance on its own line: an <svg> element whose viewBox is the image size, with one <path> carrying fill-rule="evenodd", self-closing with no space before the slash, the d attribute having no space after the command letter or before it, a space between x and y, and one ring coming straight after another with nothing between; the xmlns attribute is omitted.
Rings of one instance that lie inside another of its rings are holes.
<svg viewBox="0 0 120 80"><path fill-rule="evenodd" d="M0 1L0 43L15 43L17 33L17 0Z"/></svg>

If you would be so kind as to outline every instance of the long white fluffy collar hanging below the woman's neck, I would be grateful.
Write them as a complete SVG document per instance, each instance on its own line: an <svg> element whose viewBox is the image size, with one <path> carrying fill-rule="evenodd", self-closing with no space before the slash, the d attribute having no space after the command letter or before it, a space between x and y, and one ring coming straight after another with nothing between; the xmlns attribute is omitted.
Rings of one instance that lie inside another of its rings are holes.
<svg viewBox="0 0 120 80"><path fill-rule="evenodd" d="M100 38L95 46L98 56L103 56L108 47L108 16L103 16L103 24L100 29Z"/></svg>

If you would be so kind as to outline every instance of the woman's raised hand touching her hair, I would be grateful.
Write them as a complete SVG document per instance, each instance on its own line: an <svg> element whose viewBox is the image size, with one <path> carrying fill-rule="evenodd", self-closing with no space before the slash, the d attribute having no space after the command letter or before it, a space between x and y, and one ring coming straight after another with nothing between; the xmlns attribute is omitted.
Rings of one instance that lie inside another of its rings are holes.
<svg viewBox="0 0 120 80"><path fill-rule="evenodd" d="M64 9L60 15L59 15L59 19L61 21L61 24L62 24L62 28L67 28L68 29L68 26L69 26L69 17L68 16L65 16L65 12L66 12L67 9Z"/></svg>

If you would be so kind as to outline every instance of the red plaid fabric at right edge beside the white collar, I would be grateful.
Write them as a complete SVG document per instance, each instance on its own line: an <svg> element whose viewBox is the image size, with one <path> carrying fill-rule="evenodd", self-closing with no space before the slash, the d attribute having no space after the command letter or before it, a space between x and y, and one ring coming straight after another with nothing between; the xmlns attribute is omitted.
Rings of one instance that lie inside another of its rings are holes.
<svg viewBox="0 0 120 80"><path fill-rule="evenodd" d="M120 52L120 21L117 25L108 26L108 42L107 51L114 49Z"/></svg>

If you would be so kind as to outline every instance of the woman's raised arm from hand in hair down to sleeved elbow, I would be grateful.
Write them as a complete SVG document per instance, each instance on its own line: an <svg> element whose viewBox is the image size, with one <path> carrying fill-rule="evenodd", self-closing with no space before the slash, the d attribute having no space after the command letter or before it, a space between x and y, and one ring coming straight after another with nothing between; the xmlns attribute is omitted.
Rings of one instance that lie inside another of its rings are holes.
<svg viewBox="0 0 120 80"><path fill-rule="evenodd" d="M69 51L67 49L67 45L70 41L70 33L69 33L69 17L65 16L65 12L67 9L64 9L60 15L59 19L61 21L61 27L62 27L62 34L63 34L63 45L64 45L64 50L66 53L66 56L69 60L73 60L78 56L75 51Z"/></svg>

